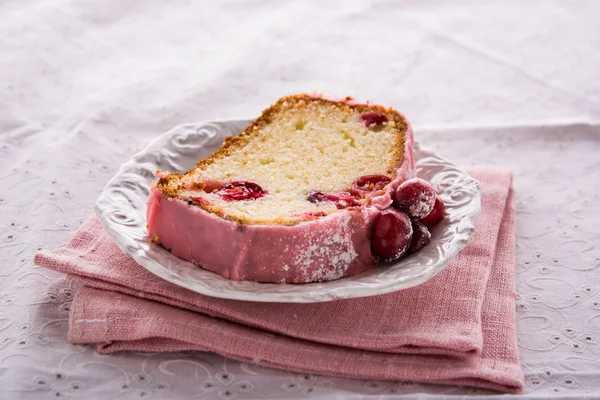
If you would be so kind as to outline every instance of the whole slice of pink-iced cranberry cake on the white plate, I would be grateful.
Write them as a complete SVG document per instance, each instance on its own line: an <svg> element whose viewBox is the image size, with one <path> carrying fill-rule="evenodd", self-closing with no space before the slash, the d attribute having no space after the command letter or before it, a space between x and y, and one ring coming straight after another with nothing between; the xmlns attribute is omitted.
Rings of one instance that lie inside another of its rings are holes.
<svg viewBox="0 0 600 400"><path fill-rule="evenodd" d="M395 110L288 96L195 168L157 172L149 236L234 280L339 279L377 266L373 224L413 175L412 130Z"/></svg>

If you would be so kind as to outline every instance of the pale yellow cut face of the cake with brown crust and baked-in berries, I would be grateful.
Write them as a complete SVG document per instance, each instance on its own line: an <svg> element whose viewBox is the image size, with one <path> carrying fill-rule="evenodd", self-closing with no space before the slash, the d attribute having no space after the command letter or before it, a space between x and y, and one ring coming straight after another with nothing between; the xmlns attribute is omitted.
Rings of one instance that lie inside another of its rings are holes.
<svg viewBox="0 0 600 400"><path fill-rule="evenodd" d="M296 224L368 202L353 183L394 177L406 127L390 108L288 96L195 168L159 174L157 186L242 224Z"/></svg>

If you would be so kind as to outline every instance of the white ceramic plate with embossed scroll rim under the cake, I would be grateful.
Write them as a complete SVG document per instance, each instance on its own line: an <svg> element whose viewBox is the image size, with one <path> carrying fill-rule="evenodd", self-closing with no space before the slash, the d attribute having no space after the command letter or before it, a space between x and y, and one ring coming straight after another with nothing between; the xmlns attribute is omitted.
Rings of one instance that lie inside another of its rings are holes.
<svg viewBox="0 0 600 400"><path fill-rule="evenodd" d="M373 296L419 285L444 269L473 235L481 208L479 182L436 152L415 143L417 173L434 185L446 204L447 216L433 229L428 246L393 265L323 283L236 282L151 244L146 236L146 201L154 172L188 170L217 150L226 136L237 135L249 123L185 124L154 139L123 164L98 199L96 214L106 232L140 265L176 285L214 297L295 303Z"/></svg>

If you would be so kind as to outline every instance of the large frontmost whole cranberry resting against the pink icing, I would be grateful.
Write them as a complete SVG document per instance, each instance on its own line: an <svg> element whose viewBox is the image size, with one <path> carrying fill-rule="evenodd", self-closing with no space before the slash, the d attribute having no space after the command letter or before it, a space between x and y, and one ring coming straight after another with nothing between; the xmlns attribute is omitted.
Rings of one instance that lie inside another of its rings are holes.
<svg viewBox="0 0 600 400"><path fill-rule="evenodd" d="M385 262L402 257L410 246L412 224L406 214L388 208L383 210L373 227L373 252Z"/></svg>

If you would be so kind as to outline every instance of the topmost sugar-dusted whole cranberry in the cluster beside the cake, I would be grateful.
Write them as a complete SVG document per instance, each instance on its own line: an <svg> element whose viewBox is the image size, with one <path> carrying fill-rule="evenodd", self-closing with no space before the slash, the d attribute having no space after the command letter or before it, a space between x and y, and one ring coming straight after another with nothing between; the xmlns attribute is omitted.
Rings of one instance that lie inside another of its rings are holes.
<svg viewBox="0 0 600 400"><path fill-rule="evenodd" d="M396 189L394 207L419 220L431 212L435 196L435 190L427 181L412 178L402 182Z"/></svg>

